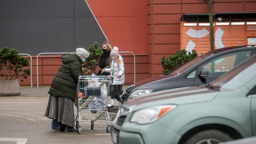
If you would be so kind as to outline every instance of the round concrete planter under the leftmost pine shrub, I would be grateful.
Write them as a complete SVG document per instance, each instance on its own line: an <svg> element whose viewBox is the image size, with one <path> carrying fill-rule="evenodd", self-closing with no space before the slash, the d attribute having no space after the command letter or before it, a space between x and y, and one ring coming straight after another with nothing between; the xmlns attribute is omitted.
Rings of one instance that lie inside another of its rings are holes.
<svg viewBox="0 0 256 144"><path fill-rule="evenodd" d="M15 80L0 80L0 96L17 96L20 95L20 83Z"/></svg>

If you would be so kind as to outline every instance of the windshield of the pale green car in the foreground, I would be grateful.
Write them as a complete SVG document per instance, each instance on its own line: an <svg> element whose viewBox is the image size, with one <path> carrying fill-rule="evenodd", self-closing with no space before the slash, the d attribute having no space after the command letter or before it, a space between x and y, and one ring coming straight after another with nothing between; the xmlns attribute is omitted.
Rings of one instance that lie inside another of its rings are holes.
<svg viewBox="0 0 256 144"><path fill-rule="evenodd" d="M235 90L256 77L256 55L242 62L234 69L210 83L210 86L221 90Z"/></svg>

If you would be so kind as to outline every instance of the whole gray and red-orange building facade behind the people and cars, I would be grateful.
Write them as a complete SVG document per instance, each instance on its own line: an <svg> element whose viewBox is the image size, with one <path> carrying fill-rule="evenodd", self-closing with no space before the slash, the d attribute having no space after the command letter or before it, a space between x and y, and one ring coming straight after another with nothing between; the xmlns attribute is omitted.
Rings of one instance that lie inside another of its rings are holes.
<svg viewBox="0 0 256 144"><path fill-rule="evenodd" d="M215 0L215 48L255 42L256 25L247 24L256 22L255 6L256 0ZM38 54L74 52L94 41L101 45L108 40L119 51L133 52L136 82L161 74L163 55L179 49L194 49L198 54L210 50L208 5L202 0L8 0L0 1L0 9L0 47L32 55L34 85ZM121 55L126 84L132 84L133 56ZM59 57L40 56L40 86L50 85L61 64ZM29 86L30 77L20 84Z"/></svg>

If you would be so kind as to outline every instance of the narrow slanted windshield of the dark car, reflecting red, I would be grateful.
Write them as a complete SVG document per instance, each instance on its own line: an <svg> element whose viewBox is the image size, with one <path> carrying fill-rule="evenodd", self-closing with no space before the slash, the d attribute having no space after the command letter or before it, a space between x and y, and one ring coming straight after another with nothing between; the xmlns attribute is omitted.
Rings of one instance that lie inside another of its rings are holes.
<svg viewBox="0 0 256 144"><path fill-rule="evenodd" d="M179 73L182 73L184 70L190 68L190 66L193 66L194 64L200 62L201 60L203 60L203 59L205 59L205 58L207 58L207 57L209 57L210 55L213 55L213 54L216 54L216 51L209 51L209 52L207 52L205 54L202 54L202 55L200 55L200 56L198 56L196 58L193 58L190 61L182 64L181 66L179 66L178 68L170 71L167 74L168 75L177 75Z"/></svg>

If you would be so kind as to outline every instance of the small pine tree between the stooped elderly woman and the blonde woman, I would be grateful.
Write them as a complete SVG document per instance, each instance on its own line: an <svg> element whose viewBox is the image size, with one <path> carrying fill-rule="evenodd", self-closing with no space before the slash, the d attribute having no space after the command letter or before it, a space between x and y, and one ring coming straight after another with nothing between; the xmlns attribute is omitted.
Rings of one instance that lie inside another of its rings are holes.
<svg viewBox="0 0 256 144"><path fill-rule="evenodd" d="M94 45L90 45L89 48L90 56L86 58L86 62L83 64L83 72L85 75L96 74L96 70L99 67L99 59L102 53L102 49L99 48L98 42L94 42Z"/></svg>

